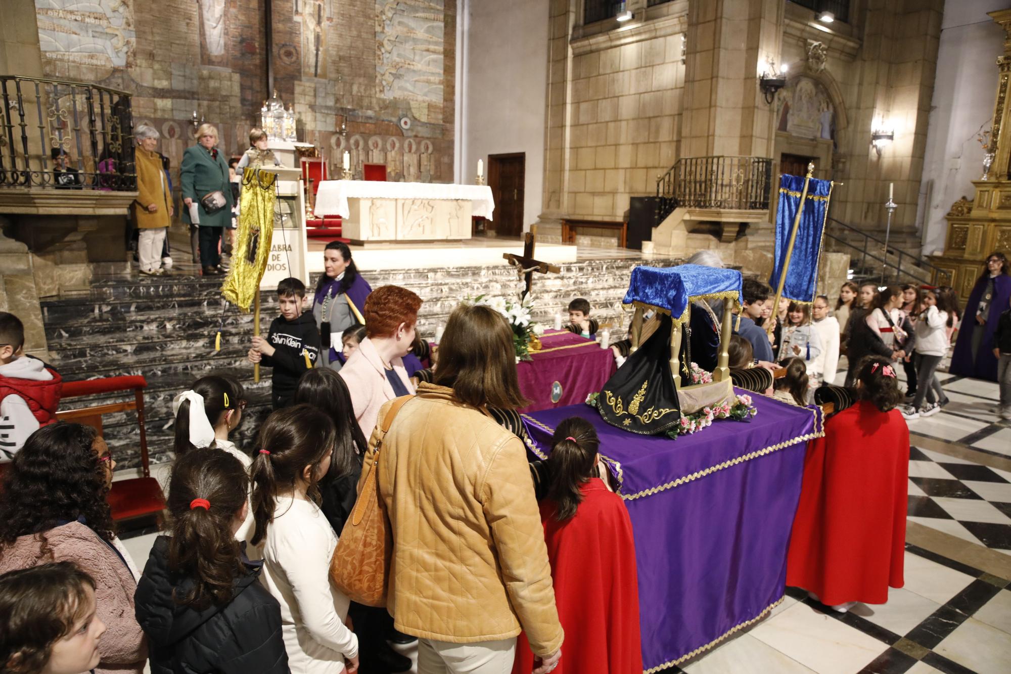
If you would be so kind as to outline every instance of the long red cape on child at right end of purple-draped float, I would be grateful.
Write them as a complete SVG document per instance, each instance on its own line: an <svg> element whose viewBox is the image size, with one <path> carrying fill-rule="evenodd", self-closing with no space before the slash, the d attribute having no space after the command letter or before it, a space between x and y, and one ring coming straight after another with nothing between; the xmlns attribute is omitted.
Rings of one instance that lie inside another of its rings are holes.
<svg viewBox="0 0 1011 674"><path fill-rule="evenodd" d="M860 401L825 424L804 459L787 585L825 604L883 604L903 586L909 428Z"/></svg>

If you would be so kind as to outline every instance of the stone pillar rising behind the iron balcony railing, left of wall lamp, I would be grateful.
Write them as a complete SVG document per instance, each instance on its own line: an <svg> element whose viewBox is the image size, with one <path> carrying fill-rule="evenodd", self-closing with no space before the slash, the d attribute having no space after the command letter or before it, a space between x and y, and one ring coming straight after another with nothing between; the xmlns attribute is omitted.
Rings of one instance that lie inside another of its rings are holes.
<svg viewBox="0 0 1011 674"><path fill-rule="evenodd" d="M681 157L770 157L774 106L758 89L765 61L779 65L778 0L688 3Z"/></svg>

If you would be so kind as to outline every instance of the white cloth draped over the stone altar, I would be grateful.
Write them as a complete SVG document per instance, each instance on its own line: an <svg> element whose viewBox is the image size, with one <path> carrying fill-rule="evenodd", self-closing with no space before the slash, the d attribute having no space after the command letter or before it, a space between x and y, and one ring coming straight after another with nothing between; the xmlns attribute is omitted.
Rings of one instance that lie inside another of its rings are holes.
<svg viewBox="0 0 1011 674"><path fill-rule="evenodd" d="M351 217L348 197L366 199L451 199L471 202L471 215L491 220L495 200L487 185L381 180L324 180L316 192L315 215Z"/></svg>

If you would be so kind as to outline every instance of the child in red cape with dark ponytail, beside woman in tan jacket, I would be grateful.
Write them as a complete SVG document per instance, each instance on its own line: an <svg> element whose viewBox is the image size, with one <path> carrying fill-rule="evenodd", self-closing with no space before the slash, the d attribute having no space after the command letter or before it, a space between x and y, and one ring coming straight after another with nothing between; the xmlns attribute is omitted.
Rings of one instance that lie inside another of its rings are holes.
<svg viewBox="0 0 1011 674"><path fill-rule="evenodd" d="M642 674L632 521L596 477L600 440L588 421L565 419L552 444L541 521L565 629L553 674ZM537 671L526 635L516 653L513 674Z"/></svg>

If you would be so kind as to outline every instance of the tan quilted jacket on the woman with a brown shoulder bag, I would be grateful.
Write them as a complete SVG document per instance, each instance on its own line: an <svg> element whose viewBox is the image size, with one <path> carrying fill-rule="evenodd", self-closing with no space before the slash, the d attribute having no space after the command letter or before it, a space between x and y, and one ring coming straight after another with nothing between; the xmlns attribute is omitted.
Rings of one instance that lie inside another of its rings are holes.
<svg viewBox="0 0 1011 674"><path fill-rule="evenodd" d="M558 650L544 528L516 435L452 389L422 384L386 434L378 478L393 529L387 608L397 629L468 644L516 637L522 625L536 655Z"/></svg>

